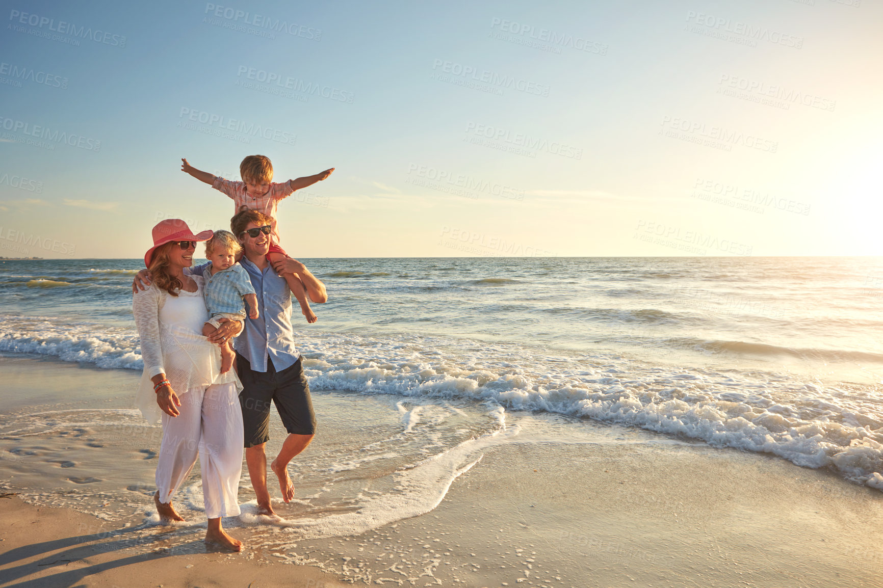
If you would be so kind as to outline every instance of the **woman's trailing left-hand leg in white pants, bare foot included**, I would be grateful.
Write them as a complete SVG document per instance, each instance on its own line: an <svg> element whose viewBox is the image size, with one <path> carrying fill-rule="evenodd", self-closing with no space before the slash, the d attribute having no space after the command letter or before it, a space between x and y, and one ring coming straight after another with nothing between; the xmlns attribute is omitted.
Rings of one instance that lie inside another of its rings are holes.
<svg viewBox="0 0 883 588"><path fill-rule="evenodd" d="M171 497L190 475L200 449L200 401L202 390L188 390L178 396L177 417L162 414L162 441L156 460L156 509L163 520L183 521L171 506Z"/></svg>

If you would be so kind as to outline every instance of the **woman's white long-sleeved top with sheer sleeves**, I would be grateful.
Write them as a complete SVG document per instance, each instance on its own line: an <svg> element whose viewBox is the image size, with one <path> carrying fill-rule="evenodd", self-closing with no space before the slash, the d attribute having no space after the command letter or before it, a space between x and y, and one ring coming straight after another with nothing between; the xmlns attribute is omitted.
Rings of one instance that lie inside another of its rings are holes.
<svg viewBox="0 0 883 588"><path fill-rule="evenodd" d="M196 282L195 292L180 290L176 297L151 285L132 295L132 314L144 360L135 405L150 422L159 421L162 415L151 381L158 373L165 373L178 397L212 384L236 382L237 390L242 389L233 370L221 373L221 349L202 335L208 320L204 282L201 275L190 277Z"/></svg>

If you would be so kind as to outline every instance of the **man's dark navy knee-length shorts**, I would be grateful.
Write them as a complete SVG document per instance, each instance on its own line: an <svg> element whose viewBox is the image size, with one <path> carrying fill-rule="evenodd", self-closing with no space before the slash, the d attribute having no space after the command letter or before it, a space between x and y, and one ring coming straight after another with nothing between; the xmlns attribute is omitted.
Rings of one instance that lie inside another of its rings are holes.
<svg viewBox="0 0 883 588"><path fill-rule="evenodd" d="M270 438L270 401L289 433L312 435L316 432L316 414L310 399L310 384L300 358L294 365L276 372L267 358L267 371L255 372L247 359L236 354L236 369L243 390L239 393L245 447L266 443Z"/></svg>

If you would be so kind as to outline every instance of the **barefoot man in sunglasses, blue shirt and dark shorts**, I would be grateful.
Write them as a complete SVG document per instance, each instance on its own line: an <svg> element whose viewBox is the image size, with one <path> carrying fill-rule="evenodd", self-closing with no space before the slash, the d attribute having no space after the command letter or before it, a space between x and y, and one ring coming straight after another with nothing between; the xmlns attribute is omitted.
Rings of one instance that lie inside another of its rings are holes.
<svg viewBox="0 0 883 588"><path fill-rule="evenodd" d="M258 297L259 318L245 320L236 340L237 372L244 387L239 395L245 425L245 462L257 495L260 514L275 515L267 489L267 454L270 401L282 418L288 436L279 455L270 463L279 479L283 501L294 498L288 464L313 441L316 418L310 387L294 345L291 328L291 290L279 274L294 273L318 304L328 300L325 284L306 266L291 258L267 260L273 219L257 210L244 210L230 220L230 230L245 254L239 263L248 272Z"/></svg>

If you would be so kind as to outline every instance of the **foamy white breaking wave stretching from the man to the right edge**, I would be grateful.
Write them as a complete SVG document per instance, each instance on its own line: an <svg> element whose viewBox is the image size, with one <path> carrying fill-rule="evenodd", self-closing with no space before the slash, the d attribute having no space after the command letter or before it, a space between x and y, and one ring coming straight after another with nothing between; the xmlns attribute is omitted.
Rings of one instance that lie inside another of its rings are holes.
<svg viewBox="0 0 883 588"><path fill-rule="evenodd" d="M872 404L870 392L847 395L781 374L764 379L748 373L638 366L615 358L600 364L544 358L535 350L487 344L472 357L445 350L443 358L429 355L422 345L383 359L352 347L351 353L342 354L346 347L341 340L329 342L326 335L305 354L314 388L465 398L492 401L508 410L594 418L770 453L806 467L830 467L870 486L879 481L883 489L883 477L877 478L883 471L883 434L878 432L883 414ZM389 351L394 348L389 345Z"/></svg>

